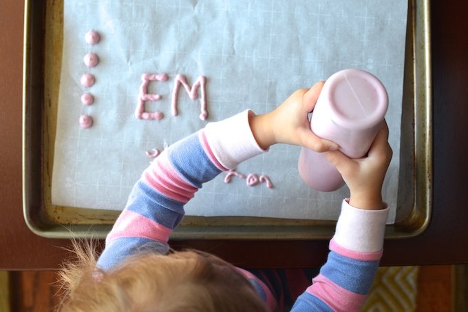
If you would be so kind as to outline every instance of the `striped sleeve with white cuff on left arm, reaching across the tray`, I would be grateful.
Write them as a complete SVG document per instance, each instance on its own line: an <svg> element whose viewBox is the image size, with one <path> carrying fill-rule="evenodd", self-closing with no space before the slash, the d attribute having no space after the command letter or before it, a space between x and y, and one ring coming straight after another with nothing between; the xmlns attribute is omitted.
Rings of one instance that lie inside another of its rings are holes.
<svg viewBox="0 0 468 312"><path fill-rule="evenodd" d="M262 154L246 110L178 141L142 173L127 205L107 235L98 266L109 269L138 251L167 253L169 236L184 216L184 205L203 183L242 161Z"/></svg>

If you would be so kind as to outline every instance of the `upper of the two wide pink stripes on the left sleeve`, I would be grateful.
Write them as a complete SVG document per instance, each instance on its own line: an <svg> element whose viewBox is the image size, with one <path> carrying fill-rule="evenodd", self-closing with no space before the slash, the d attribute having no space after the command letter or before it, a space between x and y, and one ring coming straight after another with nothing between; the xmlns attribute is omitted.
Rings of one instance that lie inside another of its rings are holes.
<svg viewBox="0 0 468 312"><path fill-rule="evenodd" d="M143 172L142 180L160 194L184 204L193 198L195 191L198 191L173 169L165 152L162 152L151 167Z"/></svg>

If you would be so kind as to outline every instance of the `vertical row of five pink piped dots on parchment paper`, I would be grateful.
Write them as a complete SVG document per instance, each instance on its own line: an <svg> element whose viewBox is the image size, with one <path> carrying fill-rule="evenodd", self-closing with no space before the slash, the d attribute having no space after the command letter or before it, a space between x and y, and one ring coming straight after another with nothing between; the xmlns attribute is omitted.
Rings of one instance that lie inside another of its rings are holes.
<svg viewBox="0 0 468 312"><path fill-rule="evenodd" d="M96 43L99 42L99 39L100 39L99 34L95 32L94 30L89 30L89 32L87 32L85 35L85 41L87 44L90 44L90 45L95 45ZM83 59L83 61L85 62L85 65L87 67L94 67L98 65L99 59L96 54L89 52L85 55L85 58ZM83 76L81 76L81 85L83 85L83 87L91 87L92 85L94 85L94 82L95 82L95 79L92 74L85 73L83 74ZM81 95L81 103L83 103L83 105L92 105L92 103L94 103L94 96L89 92L83 93ZM93 119L91 118L91 116L86 115L86 114L80 116L81 127L89 128L91 127L92 124L93 124Z"/></svg>

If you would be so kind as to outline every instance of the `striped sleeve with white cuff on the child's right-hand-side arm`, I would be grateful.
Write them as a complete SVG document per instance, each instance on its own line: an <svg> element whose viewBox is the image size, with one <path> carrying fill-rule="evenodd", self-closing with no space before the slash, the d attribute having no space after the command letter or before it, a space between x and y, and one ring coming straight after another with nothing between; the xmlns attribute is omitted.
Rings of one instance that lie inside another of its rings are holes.
<svg viewBox="0 0 468 312"><path fill-rule="evenodd" d="M359 311L374 282L383 253L389 208L364 210L343 200L330 253L292 311Z"/></svg>

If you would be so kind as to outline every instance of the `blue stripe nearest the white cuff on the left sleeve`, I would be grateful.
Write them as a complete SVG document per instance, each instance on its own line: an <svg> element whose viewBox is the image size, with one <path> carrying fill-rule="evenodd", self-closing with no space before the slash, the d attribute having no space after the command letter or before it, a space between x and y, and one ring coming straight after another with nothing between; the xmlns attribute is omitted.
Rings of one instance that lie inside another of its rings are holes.
<svg viewBox="0 0 468 312"><path fill-rule="evenodd" d="M167 153L174 170L198 189L221 173L204 152L198 133L175 143Z"/></svg>

